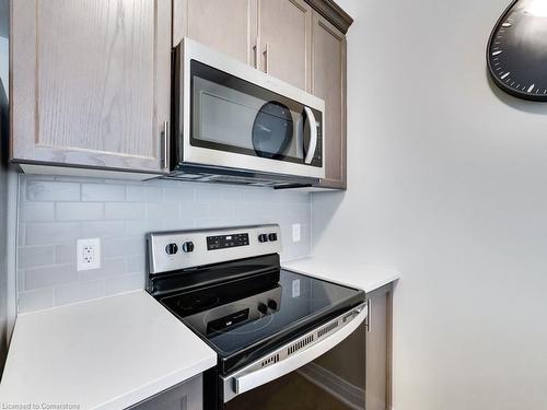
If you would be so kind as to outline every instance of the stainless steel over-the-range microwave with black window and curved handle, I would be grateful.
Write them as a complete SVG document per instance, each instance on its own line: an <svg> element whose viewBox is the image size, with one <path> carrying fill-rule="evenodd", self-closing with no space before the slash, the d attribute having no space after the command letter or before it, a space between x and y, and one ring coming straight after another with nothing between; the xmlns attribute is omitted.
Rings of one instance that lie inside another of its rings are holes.
<svg viewBox="0 0 547 410"><path fill-rule="evenodd" d="M171 177L274 187L325 177L325 102L184 38L174 50Z"/></svg>

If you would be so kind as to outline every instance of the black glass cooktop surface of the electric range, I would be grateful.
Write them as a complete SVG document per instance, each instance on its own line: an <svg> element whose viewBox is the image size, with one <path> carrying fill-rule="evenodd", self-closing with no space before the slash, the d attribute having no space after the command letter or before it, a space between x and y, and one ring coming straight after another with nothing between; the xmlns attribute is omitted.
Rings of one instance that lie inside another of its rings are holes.
<svg viewBox="0 0 547 410"><path fill-rule="evenodd" d="M218 352L228 370L363 303L364 292L281 269L161 302Z"/></svg>

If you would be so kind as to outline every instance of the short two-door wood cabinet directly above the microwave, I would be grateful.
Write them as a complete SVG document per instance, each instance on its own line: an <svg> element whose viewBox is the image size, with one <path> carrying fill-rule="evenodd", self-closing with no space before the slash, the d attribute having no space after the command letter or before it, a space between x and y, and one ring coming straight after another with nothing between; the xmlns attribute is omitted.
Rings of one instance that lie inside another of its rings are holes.
<svg viewBox="0 0 547 410"><path fill-rule="evenodd" d="M174 0L173 45L185 36L310 91L312 8L304 0Z"/></svg>

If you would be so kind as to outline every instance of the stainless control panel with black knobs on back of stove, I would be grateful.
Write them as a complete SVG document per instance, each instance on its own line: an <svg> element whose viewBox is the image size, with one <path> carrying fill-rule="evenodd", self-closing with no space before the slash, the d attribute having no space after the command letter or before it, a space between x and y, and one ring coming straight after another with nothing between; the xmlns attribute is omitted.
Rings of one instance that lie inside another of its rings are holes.
<svg viewBox="0 0 547 410"><path fill-rule="evenodd" d="M281 251L277 224L147 235L149 273L158 274Z"/></svg>

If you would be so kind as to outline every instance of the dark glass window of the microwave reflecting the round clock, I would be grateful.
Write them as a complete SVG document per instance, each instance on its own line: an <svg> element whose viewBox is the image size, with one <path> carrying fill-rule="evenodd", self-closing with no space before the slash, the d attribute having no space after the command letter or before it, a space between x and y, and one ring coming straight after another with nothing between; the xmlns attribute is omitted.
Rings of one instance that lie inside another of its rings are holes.
<svg viewBox="0 0 547 410"><path fill-rule="evenodd" d="M302 104L195 60L190 77L191 145L304 162Z"/></svg>

